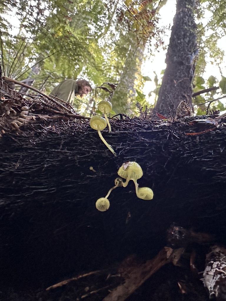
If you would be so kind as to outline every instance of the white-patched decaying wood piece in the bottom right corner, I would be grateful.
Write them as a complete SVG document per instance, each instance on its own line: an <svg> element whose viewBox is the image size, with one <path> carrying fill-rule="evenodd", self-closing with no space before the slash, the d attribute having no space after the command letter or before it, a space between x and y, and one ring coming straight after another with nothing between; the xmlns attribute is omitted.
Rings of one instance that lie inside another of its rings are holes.
<svg viewBox="0 0 226 301"><path fill-rule="evenodd" d="M209 290L209 298L226 300L226 249L213 246L206 255L203 284Z"/></svg>

